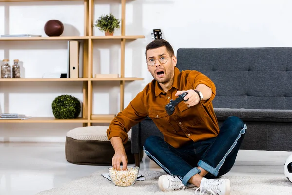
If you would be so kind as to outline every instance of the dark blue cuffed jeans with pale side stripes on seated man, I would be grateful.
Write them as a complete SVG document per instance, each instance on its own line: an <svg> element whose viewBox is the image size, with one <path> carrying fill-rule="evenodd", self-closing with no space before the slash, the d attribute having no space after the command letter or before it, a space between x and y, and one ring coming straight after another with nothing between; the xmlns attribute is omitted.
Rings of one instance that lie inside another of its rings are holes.
<svg viewBox="0 0 292 195"><path fill-rule="evenodd" d="M143 149L146 155L170 175L178 176L184 185L201 170L209 173L206 178L216 178L226 174L234 165L242 143L246 125L238 117L227 118L219 135L204 141L190 142L174 148L164 139L150 136Z"/></svg>

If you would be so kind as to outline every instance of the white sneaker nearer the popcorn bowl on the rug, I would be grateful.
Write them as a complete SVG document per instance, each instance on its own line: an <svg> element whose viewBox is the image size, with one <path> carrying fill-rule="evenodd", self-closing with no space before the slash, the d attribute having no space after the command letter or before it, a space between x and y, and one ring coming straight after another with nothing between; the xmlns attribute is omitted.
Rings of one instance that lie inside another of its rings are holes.
<svg viewBox="0 0 292 195"><path fill-rule="evenodd" d="M162 175L158 179L158 187L162 191L184 190L183 182L177 176Z"/></svg>

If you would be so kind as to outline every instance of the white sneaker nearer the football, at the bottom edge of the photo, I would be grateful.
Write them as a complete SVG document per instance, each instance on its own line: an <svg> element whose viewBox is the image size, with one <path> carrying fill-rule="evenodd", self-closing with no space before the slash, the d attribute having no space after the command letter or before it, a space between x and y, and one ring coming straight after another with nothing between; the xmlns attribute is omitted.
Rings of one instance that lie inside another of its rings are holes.
<svg viewBox="0 0 292 195"><path fill-rule="evenodd" d="M199 191L200 189L200 191ZM229 179L206 179L201 180L200 187L196 189L195 195L229 195L230 181Z"/></svg>

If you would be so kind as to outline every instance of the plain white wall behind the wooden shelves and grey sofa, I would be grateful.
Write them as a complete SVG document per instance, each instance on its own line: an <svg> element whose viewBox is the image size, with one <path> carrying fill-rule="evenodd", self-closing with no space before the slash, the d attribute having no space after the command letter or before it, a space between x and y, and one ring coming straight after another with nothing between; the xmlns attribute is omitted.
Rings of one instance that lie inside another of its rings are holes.
<svg viewBox="0 0 292 195"><path fill-rule="evenodd" d="M292 1L289 0L129 0L126 34L145 39L126 44L126 76L143 77L128 82L125 105L152 80L145 63L145 47L152 29L162 29L175 52L180 47L292 46ZM119 1L95 1L94 22L101 14L120 17ZM83 36L83 2L0 2L0 34L40 34L46 21L64 23L63 35ZM119 35L120 30L115 32ZM94 35L103 32L94 30ZM22 76L41 78L45 72L66 71L66 41L0 41L0 60L19 59ZM94 73L119 73L118 40L94 41ZM82 100L81 82L0 82L0 112L53 117L51 102L61 94ZM119 111L116 82L94 82L93 113ZM4 124L0 141L64 141L66 132L81 124Z"/></svg>

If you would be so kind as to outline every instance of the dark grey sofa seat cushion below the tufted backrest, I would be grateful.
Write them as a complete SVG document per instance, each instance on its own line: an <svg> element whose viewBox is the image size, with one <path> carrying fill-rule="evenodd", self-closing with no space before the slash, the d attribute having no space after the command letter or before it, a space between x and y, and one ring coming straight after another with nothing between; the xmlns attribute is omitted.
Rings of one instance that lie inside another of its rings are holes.
<svg viewBox="0 0 292 195"><path fill-rule="evenodd" d="M237 116L244 121L292 122L292 110L214 108L219 121Z"/></svg>

